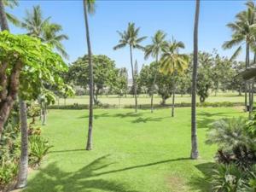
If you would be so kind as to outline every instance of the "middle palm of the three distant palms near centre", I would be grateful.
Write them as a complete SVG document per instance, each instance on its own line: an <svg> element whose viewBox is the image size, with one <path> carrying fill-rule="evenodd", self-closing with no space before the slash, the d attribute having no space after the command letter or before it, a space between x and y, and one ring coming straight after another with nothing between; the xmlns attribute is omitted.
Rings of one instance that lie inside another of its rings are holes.
<svg viewBox="0 0 256 192"><path fill-rule="evenodd" d="M145 47L145 59L148 59L149 55L155 58L156 66L158 66L159 55L162 50L166 48L167 43L165 41L166 34L162 31L157 31L154 34L154 37L151 38L152 44L148 44ZM157 73L154 74L153 84L150 90L151 94L151 113L153 113L153 97L154 97L154 84L156 80Z"/></svg>

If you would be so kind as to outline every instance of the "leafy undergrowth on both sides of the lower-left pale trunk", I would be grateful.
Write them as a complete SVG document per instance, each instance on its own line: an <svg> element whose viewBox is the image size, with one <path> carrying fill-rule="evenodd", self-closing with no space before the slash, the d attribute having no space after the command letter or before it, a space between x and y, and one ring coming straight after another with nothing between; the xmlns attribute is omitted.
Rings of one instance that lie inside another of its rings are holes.
<svg viewBox="0 0 256 192"><path fill-rule="evenodd" d="M15 106L16 107L16 106ZM20 160L20 124L18 108L13 110L0 139L0 191L8 189L15 181ZM33 114L34 112L31 111ZM32 115L33 116L33 115ZM40 128L29 127L29 161L32 167L38 166L49 151L49 143L40 135Z"/></svg>

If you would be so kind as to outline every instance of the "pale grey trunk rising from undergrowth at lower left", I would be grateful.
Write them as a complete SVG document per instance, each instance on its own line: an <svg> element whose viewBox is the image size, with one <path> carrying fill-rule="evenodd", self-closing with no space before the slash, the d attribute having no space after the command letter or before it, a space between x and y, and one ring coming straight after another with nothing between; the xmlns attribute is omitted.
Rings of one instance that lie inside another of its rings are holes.
<svg viewBox="0 0 256 192"><path fill-rule="evenodd" d="M26 187L26 177L28 169L28 133L27 133L27 115L26 115L26 102L22 99L20 102L20 128L21 128L21 154L20 154L20 164L19 173L16 183L16 188Z"/></svg>

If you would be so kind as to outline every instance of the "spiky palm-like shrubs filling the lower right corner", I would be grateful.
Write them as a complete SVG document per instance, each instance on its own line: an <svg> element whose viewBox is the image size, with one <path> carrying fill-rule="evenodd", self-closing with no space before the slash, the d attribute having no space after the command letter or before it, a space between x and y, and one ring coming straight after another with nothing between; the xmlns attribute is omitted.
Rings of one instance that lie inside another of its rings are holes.
<svg viewBox="0 0 256 192"><path fill-rule="evenodd" d="M216 192L248 192L256 189L256 116L220 119L207 134L208 144L218 144L217 168L212 174Z"/></svg>

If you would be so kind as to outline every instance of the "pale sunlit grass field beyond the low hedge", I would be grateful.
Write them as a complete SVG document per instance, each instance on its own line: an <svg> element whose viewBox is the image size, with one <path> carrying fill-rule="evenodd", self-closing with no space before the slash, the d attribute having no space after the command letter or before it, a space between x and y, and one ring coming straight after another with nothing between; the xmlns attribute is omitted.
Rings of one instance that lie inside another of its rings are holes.
<svg viewBox="0 0 256 192"><path fill-rule="evenodd" d="M118 96L99 96L98 100L103 104L115 104L115 105L133 105L134 99L132 96L123 96L119 100ZM60 105L64 104L64 99L60 99ZM120 102L120 103L119 103ZM160 104L161 97L155 95L154 96L154 104ZM190 103L191 97L189 95L180 96L176 95L176 103ZM199 97L197 97L197 102L199 102ZM237 92L227 92L227 93L218 93L217 96L209 96L206 102L244 102L244 96L238 96ZM66 104L73 105L73 103L79 104L89 104L89 96L75 96L73 98L67 98ZM166 104L171 104L172 98L166 100ZM56 103L58 104L58 103ZM138 104L150 104L150 97L148 95L140 95L138 96Z"/></svg>

